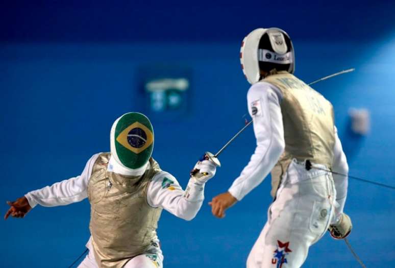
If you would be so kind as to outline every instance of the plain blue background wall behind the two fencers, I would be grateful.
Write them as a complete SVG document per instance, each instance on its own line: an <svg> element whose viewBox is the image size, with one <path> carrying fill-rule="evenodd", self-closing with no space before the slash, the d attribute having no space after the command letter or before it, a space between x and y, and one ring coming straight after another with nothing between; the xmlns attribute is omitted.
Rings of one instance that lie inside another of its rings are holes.
<svg viewBox="0 0 395 268"><path fill-rule="evenodd" d="M282 27L293 37L296 75L306 82L356 68L315 88L335 107L350 174L395 184L395 9L390 2L87 3L18 3L1 10L4 213L6 200L77 176L92 154L109 150L114 119L144 111L141 66L182 66L190 72L189 113L172 121L153 119L154 157L185 186L203 151L218 150L244 124L249 84L239 66L239 43L262 26ZM240 12L246 7L256 8ZM350 107L370 110L367 136L350 133ZM221 155L223 167L206 186L207 202L228 189L254 148L249 129ZM266 221L269 186L266 179L222 220L211 215L206 201L191 222L163 212L158 233L165 266L242 267ZM350 241L368 267L393 267L394 208L393 190L350 180L345 207L354 223ZM88 222L87 200L38 206L23 220L1 221L0 266L66 267L84 250ZM326 235L304 264L317 266L358 263L342 241Z"/></svg>

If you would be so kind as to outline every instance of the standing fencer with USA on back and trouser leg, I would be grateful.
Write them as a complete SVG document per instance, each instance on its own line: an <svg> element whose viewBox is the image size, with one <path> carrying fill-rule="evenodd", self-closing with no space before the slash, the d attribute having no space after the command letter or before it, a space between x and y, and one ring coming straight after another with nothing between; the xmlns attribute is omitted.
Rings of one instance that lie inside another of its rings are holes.
<svg viewBox="0 0 395 268"><path fill-rule="evenodd" d="M348 179L330 172L348 174L332 105L292 75L293 47L283 30L254 30L243 40L240 57L252 84L247 103L257 147L228 192L210 205L224 217L271 172L274 202L246 266L300 267L328 228L337 239L352 228L343 213Z"/></svg>

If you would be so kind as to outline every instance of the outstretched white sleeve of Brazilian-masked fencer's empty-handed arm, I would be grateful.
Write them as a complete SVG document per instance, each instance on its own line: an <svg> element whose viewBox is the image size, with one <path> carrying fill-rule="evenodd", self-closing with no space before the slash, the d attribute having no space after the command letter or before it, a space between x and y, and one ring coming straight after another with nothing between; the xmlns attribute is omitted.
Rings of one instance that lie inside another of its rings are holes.
<svg viewBox="0 0 395 268"><path fill-rule="evenodd" d="M51 186L46 186L25 194L29 205L32 208L37 204L44 207L63 206L87 198L89 177L98 155L100 154L95 154L88 160L80 176L63 180Z"/></svg>

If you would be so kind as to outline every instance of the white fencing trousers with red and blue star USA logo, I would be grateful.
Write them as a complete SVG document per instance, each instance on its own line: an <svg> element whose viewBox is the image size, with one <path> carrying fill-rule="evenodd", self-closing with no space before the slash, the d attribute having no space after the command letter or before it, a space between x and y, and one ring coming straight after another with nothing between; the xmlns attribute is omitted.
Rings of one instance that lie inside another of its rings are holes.
<svg viewBox="0 0 395 268"><path fill-rule="evenodd" d="M325 165L313 166L328 169ZM334 215L336 189L332 175L306 170L293 159L283 175L267 222L247 260L248 268L296 268L306 260L309 247L327 231Z"/></svg>

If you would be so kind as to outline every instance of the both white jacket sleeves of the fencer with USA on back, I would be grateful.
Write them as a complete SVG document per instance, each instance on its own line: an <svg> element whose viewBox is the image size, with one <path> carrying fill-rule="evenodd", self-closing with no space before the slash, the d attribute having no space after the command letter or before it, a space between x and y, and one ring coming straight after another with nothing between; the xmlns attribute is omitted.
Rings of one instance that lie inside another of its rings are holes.
<svg viewBox="0 0 395 268"><path fill-rule="evenodd" d="M260 105L255 104L256 100L261 101ZM229 188L229 192L237 200L241 200L263 181L271 169L273 169L284 150L285 141L280 107L281 100L282 93L280 89L266 82L255 83L248 91L247 103L250 116L254 120L257 147L248 165L244 167L240 176L236 178ZM332 170L334 172L348 174L349 167L347 159L343 153L336 128L335 137ZM347 197L348 178L333 174L333 179L337 192L336 202L339 203L336 214L339 214L343 211L345 198Z"/></svg>

